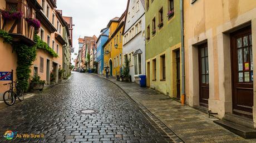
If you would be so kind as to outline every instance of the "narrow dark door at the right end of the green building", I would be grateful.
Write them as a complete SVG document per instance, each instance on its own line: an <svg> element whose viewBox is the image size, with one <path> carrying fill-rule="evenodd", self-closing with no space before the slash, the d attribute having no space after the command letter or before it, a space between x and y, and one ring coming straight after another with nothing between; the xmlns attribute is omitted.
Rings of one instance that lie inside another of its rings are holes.
<svg viewBox="0 0 256 143"><path fill-rule="evenodd" d="M176 50L176 90L177 98L180 99L180 50Z"/></svg>

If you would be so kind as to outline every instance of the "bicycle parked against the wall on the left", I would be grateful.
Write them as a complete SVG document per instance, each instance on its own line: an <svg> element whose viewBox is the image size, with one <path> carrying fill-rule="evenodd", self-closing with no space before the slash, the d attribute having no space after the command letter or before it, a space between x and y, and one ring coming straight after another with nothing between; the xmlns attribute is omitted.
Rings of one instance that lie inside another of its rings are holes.
<svg viewBox="0 0 256 143"><path fill-rule="evenodd" d="M15 84L15 86L13 86L13 83ZM6 103L7 105L11 106L15 103L16 98L19 99L19 101L23 101L24 99L24 92L22 89L20 89L17 84L18 82L13 81L12 83L6 83L3 85L8 85L9 84L9 90L7 90L4 94L3 94L3 101L4 103ZM13 88L16 89L16 91L13 90Z"/></svg>

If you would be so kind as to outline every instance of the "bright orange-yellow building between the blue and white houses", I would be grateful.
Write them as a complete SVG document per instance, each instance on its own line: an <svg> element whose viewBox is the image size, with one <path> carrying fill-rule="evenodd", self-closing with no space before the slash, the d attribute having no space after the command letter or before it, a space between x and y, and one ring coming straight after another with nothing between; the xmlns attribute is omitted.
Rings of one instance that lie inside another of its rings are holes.
<svg viewBox="0 0 256 143"><path fill-rule="evenodd" d="M122 66L122 30L124 28L125 12L122 16L111 19L109 28L109 39L104 47L104 67L109 67L110 76L120 75ZM104 74L105 71L104 71Z"/></svg>

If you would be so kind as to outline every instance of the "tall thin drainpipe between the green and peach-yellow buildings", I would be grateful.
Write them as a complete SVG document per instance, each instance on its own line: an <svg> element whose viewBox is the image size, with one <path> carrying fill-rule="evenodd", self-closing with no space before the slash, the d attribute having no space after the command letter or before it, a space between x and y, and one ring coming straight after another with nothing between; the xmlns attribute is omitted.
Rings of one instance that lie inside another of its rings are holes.
<svg viewBox="0 0 256 143"><path fill-rule="evenodd" d="M184 13L183 0L180 0L180 14L181 14L181 70L182 70L182 90L181 90L181 105L185 104L185 54L184 54Z"/></svg>

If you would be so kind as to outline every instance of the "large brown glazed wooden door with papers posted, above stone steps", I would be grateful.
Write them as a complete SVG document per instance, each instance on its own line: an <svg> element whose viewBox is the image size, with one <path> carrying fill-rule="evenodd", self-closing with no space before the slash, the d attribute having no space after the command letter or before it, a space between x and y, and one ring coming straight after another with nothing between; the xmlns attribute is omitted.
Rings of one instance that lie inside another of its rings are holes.
<svg viewBox="0 0 256 143"><path fill-rule="evenodd" d="M233 113L253 118L253 53L251 27L231 34Z"/></svg>

